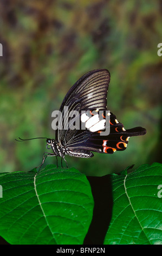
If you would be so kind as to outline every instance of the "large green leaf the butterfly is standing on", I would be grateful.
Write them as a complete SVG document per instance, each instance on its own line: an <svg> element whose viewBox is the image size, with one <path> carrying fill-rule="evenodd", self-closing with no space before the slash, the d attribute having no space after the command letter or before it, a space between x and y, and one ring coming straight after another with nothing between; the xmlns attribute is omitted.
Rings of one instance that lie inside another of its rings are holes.
<svg viewBox="0 0 162 256"><path fill-rule="evenodd" d="M84 174L51 164L38 173L2 173L0 184L0 235L9 243L83 243L93 215Z"/></svg>

